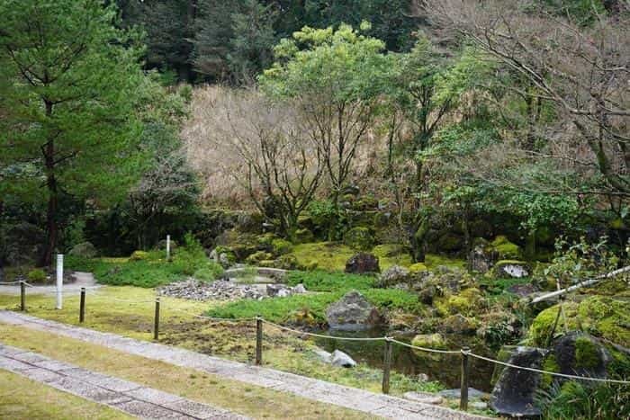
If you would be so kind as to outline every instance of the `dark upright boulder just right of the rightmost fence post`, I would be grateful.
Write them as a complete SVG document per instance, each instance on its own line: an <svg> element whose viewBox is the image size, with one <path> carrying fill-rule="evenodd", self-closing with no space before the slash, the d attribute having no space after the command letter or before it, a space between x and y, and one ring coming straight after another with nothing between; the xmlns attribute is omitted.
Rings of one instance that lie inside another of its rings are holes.
<svg viewBox="0 0 630 420"><path fill-rule="evenodd" d="M540 369L545 350L519 346L513 349L508 362L518 366ZM506 367L492 389L490 404L501 416L540 416L535 405L536 389L541 374L535 371Z"/></svg>

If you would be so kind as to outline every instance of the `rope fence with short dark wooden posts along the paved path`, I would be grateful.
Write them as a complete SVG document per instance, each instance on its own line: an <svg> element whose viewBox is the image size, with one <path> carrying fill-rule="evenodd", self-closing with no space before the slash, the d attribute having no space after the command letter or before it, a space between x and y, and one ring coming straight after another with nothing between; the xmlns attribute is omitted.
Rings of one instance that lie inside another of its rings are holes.
<svg viewBox="0 0 630 420"><path fill-rule="evenodd" d="M11 281L0 284L20 284L21 287L21 310L26 310L25 305L25 296L26 296L26 287L37 289L39 286L33 286L32 284L26 281ZM101 286L88 286L82 287L80 290L80 307L79 307L79 322L83 323L85 321L85 293L87 290L95 290L99 289ZM49 293L56 293L54 290L50 290ZM76 290L67 290L67 293L76 293ZM108 299L112 299L113 301L128 303L128 304L145 304L145 303L154 303L155 304L155 313L154 313L154 329L153 329L153 338L154 340L159 339L159 317L160 317L160 298L156 297L156 299L152 300L132 300L132 299L118 299L108 297ZM256 364L261 365L263 361L263 326L266 324L268 326L273 326L278 330L285 331L287 333L291 333L294 335L300 336L311 336L317 338L323 338L327 340L337 340L337 341L352 341L352 342L383 342L384 343L384 354L383 354L383 393L389 393L390 389L390 371L392 368L392 344L401 345L403 347L407 347L413 350L417 350L419 352L425 353L440 353L440 354L460 354L462 360L462 373L461 373L461 394L460 394L460 409L466 410L468 407L468 384L469 384L469 357L473 357L478 360L482 360L484 362L490 362L494 364L499 364L505 366L509 369L517 369L522 371L533 371L540 374L551 375L554 377L564 378L568 380L590 380L597 381L602 383L614 383L621 385L630 384L630 380L611 380L606 378L592 378L588 376L579 376L579 375L571 375L567 373L554 372L554 371L544 371L541 369L530 368L527 366L518 366L516 364L512 364L509 362L501 362L495 359L491 359L490 357L485 357L480 354L475 354L471 352L470 348L464 347L460 350L444 350L444 349L435 349L429 347L422 347L419 345L413 345L409 343L405 343L399 340L396 340L389 336L382 337L340 337L335 335L324 335L311 333L309 331L302 331L295 328L291 328L289 326L283 326L280 324L276 324L275 322L268 321L264 317L239 317L239 318L224 318L224 317L209 317L203 316L199 314L194 314L191 311L187 311L180 308L166 307L168 310L173 310L175 312L186 314L190 317L195 317L199 319L215 321L215 322L232 322L232 323L241 323L241 322L251 322L256 321L256 329L257 329L257 345L256 345Z"/></svg>

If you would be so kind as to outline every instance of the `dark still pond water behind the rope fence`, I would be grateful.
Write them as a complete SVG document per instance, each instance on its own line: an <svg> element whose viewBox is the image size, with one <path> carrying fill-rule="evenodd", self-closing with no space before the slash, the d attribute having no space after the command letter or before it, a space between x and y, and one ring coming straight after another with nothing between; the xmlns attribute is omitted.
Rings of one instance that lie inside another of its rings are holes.
<svg viewBox="0 0 630 420"><path fill-rule="evenodd" d="M361 332L329 330L324 333L347 337L382 337L383 335L388 335L388 332L382 329ZM410 343L413 336L395 335L395 338L399 341ZM454 349L468 345L473 350L473 353L492 356L487 348L474 343L475 340L471 337L446 335L446 338ZM383 369L383 342L357 342L316 338L315 343L328 352L338 349L350 355L356 362L363 362L371 367ZM493 366L490 363L471 359L470 369L470 386L490 392L492 390L491 377ZM437 380L447 388L459 388L461 356L459 354L419 353L409 347L394 344L392 370L413 378L417 378L419 374L425 373L428 375L429 380Z"/></svg>

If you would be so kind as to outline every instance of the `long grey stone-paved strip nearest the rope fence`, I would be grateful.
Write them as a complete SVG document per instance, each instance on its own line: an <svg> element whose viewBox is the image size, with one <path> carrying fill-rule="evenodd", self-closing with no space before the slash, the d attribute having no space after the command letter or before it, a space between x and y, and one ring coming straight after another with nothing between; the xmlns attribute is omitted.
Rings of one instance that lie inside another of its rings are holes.
<svg viewBox="0 0 630 420"><path fill-rule="evenodd" d="M289 392L339 407L347 407L374 416L404 419L457 419L473 420L486 417L473 416L445 407L436 407L403 398L376 394L363 389L314 380L274 369L232 362L218 357L194 353L164 344L149 343L121 335L101 333L87 328L68 326L55 321L31 317L11 311L0 311L0 323L23 326L48 333L63 335L99 344L120 352L167 362L176 366L207 371L214 375L239 380L258 387Z"/></svg>

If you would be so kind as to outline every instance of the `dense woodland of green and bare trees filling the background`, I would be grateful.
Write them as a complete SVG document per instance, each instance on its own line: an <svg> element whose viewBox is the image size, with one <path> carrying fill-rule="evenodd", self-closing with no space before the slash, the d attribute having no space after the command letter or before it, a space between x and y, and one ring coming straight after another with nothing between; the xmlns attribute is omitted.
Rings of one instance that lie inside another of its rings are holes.
<svg viewBox="0 0 630 420"><path fill-rule="evenodd" d="M493 292L628 265L627 1L0 0L0 16L0 281L57 253L141 259L166 235L223 269L334 277L359 255L374 289L410 283L437 311L422 317L481 320L497 350L548 346L529 327L549 309ZM608 286L614 326L586 329L627 356L627 274ZM622 391L598 418L623 417Z"/></svg>

